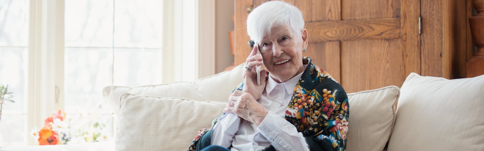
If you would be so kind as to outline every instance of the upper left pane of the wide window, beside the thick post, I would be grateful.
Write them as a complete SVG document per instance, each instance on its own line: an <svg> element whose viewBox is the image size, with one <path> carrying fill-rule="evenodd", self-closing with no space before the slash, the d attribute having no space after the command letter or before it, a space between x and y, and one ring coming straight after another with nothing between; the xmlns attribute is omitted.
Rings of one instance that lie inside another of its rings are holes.
<svg viewBox="0 0 484 151"><path fill-rule="evenodd" d="M112 46L113 0L65 0L65 46Z"/></svg>

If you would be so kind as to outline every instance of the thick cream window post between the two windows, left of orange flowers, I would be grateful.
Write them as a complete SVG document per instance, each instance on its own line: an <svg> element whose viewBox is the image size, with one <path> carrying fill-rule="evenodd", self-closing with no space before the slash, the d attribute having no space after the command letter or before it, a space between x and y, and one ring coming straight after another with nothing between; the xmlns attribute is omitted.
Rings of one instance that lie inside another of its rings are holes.
<svg viewBox="0 0 484 151"><path fill-rule="evenodd" d="M29 20L27 132L64 107L64 0L30 0Z"/></svg>

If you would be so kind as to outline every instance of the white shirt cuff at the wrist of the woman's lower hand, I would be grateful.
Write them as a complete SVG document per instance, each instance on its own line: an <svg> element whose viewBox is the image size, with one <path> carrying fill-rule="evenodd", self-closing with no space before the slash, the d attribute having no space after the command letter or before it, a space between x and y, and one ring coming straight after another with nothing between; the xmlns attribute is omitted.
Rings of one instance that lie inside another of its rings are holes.
<svg viewBox="0 0 484 151"><path fill-rule="evenodd" d="M266 138L269 136L270 138L267 139L272 142L274 138L277 137L286 122L286 119L283 119L274 112L269 111L264 120L262 120L259 126L257 126L257 130L263 134L263 136L266 136Z"/></svg>

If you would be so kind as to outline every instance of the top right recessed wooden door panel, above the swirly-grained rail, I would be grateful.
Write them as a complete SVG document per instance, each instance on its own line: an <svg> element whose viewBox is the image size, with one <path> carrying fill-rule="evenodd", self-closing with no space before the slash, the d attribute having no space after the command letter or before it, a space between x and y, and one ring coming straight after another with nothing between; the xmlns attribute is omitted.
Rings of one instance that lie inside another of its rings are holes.
<svg viewBox="0 0 484 151"><path fill-rule="evenodd" d="M400 17L400 0L341 0L341 19Z"/></svg>

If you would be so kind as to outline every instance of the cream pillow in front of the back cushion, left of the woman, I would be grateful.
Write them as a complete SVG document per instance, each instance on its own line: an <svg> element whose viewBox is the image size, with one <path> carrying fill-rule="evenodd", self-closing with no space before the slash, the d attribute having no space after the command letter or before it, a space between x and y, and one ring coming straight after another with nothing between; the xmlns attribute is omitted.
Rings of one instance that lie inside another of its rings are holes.
<svg viewBox="0 0 484 151"><path fill-rule="evenodd" d="M121 94L116 151L183 151L227 103Z"/></svg>

